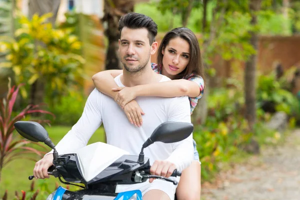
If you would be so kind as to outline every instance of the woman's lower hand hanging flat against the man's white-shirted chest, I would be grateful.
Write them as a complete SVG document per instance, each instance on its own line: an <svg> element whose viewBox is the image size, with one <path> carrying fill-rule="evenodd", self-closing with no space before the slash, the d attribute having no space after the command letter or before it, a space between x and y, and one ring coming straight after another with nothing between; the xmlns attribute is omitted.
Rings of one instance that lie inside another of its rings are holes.
<svg viewBox="0 0 300 200"><path fill-rule="evenodd" d="M136 100L131 100L124 106L124 112L131 124L134 124L138 127L142 124L141 115L144 114L142 109L139 107Z"/></svg>

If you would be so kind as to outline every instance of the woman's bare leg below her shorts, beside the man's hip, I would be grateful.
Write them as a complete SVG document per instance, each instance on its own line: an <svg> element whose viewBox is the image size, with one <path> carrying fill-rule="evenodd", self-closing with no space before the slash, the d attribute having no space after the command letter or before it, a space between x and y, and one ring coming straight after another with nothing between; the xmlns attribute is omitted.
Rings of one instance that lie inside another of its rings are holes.
<svg viewBox="0 0 300 200"><path fill-rule="evenodd" d="M178 200L199 200L201 194L201 164L197 160L182 171L176 188Z"/></svg>

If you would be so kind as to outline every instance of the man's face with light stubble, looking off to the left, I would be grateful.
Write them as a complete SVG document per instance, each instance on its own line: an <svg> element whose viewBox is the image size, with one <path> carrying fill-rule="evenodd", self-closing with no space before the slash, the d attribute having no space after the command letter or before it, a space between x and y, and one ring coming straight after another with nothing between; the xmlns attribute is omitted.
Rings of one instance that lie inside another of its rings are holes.
<svg viewBox="0 0 300 200"><path fill-rule="evenodd" d="M137 72L143 69L151 54L148 30L123 27L119 39L119 53L121 62L127 71Z"/></svg>

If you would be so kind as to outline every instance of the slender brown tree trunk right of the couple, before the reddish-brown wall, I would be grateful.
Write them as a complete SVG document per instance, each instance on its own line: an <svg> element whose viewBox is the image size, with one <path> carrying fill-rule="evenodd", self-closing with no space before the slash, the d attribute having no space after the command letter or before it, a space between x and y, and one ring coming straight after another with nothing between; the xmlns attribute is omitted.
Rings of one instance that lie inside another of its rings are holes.
<svg viewBox="0 0 300 200"><path fill-rule="evenodd" d="M256 12L260 9L261 0L251 0L249 4L251 12L251 24L254 26L257 23ZM250 43L255 50L258 45L258 33L251 31ZM256 120L256 54L252 54L246 61L244 71L244 90L245 90L245 118L248 120L249 128L252 130Z"/></svg>

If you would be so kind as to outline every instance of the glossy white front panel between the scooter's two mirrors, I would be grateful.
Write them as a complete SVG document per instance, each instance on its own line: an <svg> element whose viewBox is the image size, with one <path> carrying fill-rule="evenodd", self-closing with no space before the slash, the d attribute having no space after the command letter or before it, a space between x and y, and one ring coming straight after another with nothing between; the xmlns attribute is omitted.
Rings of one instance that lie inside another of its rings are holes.
<svg viewBox="0 0 300 200"><path fill-rule="evenodd" d="M77 154L80 171L86 182L98 175L122 155L129 154L121 148L103 142L86 145L74 153Z"/></svg>

